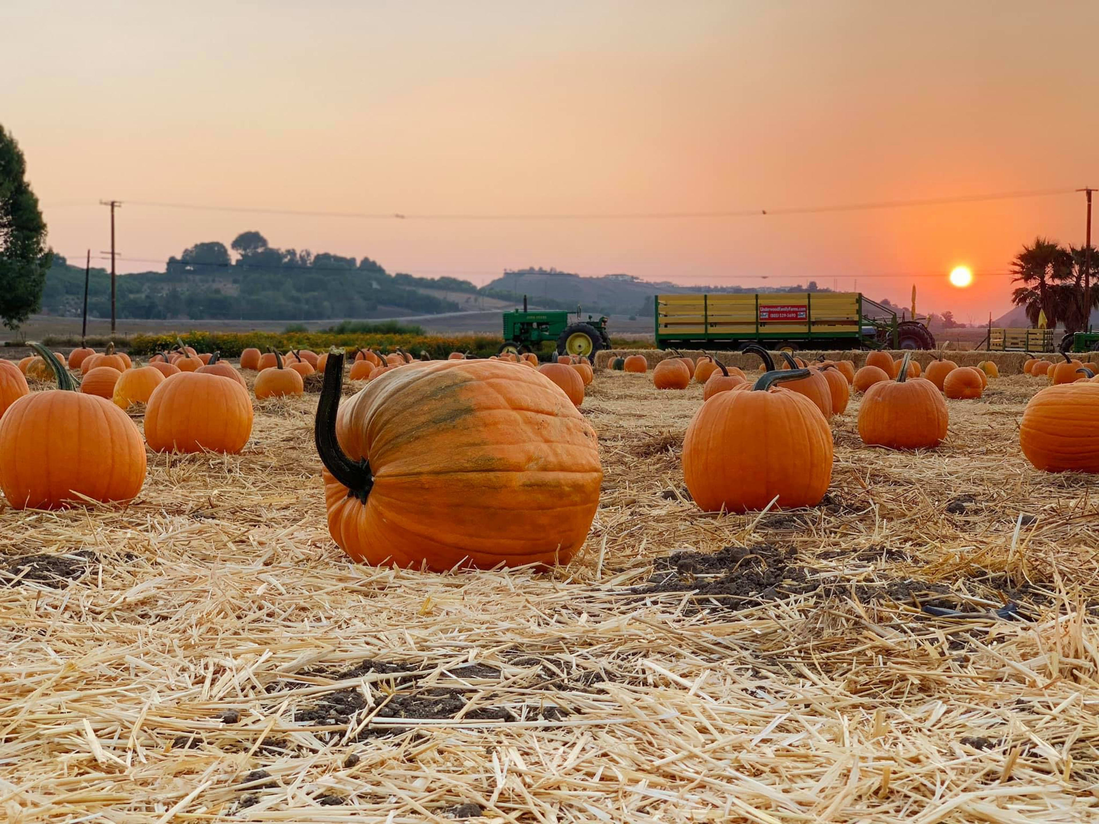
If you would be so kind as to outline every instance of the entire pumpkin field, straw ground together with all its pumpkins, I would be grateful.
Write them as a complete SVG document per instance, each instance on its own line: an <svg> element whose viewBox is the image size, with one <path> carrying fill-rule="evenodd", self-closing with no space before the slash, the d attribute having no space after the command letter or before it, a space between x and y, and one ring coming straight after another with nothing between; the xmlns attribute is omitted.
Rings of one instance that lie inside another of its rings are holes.
<svg viewBox="0 0 1099 824"><path fill-rule="evenodd" d="M1099 356L35 352L11 821L1097 814Z"/></svg>

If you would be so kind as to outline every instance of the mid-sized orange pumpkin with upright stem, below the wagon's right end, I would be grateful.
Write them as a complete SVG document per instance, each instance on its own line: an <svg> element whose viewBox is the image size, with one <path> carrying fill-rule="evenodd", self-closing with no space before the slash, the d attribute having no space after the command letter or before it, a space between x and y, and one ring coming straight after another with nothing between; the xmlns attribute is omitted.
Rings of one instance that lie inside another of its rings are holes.
<svg viewBox="0 0 1099 824"><path fill-rule="evenodd" d="M908 359L909 355L904 356ZM890 449L930 449L946 437L950 413L939 388L926 378L908 378L870 386L858 408L858 436L864 444Z"/></svg>

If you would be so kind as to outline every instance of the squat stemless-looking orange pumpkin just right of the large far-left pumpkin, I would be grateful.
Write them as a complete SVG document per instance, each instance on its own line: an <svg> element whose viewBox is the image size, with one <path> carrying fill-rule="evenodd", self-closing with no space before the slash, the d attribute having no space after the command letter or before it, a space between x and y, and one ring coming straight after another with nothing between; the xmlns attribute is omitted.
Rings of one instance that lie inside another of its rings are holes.
<svg viewBox="0 0 1099 824"><path fill-rule="evenodd" d="M145 407L145 439L154 452L238 453L251 434L252 399L240 383L220 375L173 375L153 390Z"/></svg>

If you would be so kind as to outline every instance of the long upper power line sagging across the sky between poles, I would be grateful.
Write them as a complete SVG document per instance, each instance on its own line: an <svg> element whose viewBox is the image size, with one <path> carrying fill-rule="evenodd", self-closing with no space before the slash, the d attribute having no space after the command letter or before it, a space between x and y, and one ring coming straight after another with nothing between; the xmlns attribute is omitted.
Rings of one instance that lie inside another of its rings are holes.
<svg viewBox="0 0 1099 824"><path fill-rule="evenodd" d="M857 212L884 209L910 209L956 203L978 203L996 200L1019 200L1023 198L1047 198L1074 194L1074 188L1034 189L1029 191L991 192L986 194L958 194L935 198L911 198L907 200L879 200L857 203L834 203L829 205L779 207L777 209L728 209L714 211L685 212L574 212L574 213L409 213L409 212L338 212L300 209L270 209L266 207L232 207L211 203L178 203L153 200L127 200L130 205L153 209L178 209L202 212L233 212L238 214L277 214L293 218L340 218L346 220L423 220L423 221L581 221L581 220L697 220L714 218L763 218L789 216L798 214L825 214L830 212Z"/></svg>

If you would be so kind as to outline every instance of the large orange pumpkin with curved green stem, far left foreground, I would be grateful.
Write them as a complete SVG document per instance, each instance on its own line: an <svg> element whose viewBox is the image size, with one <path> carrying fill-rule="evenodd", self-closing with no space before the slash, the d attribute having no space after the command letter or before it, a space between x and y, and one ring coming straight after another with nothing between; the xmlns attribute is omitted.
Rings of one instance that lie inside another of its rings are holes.
<svg viewBox="0 0 1099 824"><path fill-rule="evenodd" d="M14 509L129 501L145 482L145 446L118 407L75 391L73 377L38 344L57 389L26 394L0 419L0 489Z"/></svg>

